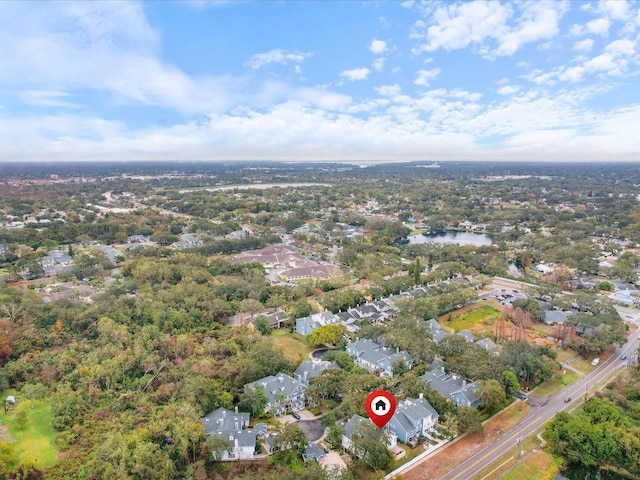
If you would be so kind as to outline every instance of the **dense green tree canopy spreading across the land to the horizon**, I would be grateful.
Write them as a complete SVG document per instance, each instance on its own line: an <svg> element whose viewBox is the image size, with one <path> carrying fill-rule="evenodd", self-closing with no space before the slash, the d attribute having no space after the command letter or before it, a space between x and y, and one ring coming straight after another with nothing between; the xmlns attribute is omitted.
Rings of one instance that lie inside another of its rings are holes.
<svg viewBox="0 0 640 480"><path fill-rule="evenodd" d="M498 338L491 327L496 353L453 333L435 341L428 322L475 303L494 276L537 285L513 310L496 310L514 331L544 327L540 305L548 304L571 313L580 335L564 345L584 357L624 342L625 324L598 288L567 290L582 278L609 290L637 280L640 167L423 168L429 165L0 165L0 393L47 405L59 452L52 465L30 467L0 436L0 478L25 469L53 479L324 478L317 465L302 466L306 437L293 428L278 430L291 453L263 467L225 468L215 461L224 446L205 441L200 422L219 407L238 406L252 413L252 424L255 417L279 428L263 413L265 399L245 385L293 374L310 345L330 347L325 359L340 367L314 378L306 392L335 445L340 420L364 415L364 399L377 388L399 399L424 396L444 436L476 431L480 411L500 410L520 388L559 370L554 348ZM268 185L292 182L305 185ZM407 240L470 225L491 245ZM273 246L338 274L285 281L270 264L234 259ZM72 268L51 276L52 251ZM615 264L603 263L610 258ZM533 269L541 263L552 272ZM423 294L406 294L418 285ZM306 344L286 343L267 319L281 312L283 325L275 327L290 341L298 318L400 294L393 320L365 319L356 333L325 328ZM416 365L397 363L391 378L374 376L345 351L356 338L406 351ZM478 382L480 411L456 407L420 379L434 359ZM636 419L621 410L634 405L633 378L618 389L624 399L609 392L583 413L559 417L548 434L556 451L637 474ZM601 420L611 428L593 427ZM573 431L588 425L597 430L589 455ZM378 452L381 439L366 429L358 435L362 448ZM622 446L609 448L614 440ZM344 478L389 465L384 452L354 458Z"/></svg>

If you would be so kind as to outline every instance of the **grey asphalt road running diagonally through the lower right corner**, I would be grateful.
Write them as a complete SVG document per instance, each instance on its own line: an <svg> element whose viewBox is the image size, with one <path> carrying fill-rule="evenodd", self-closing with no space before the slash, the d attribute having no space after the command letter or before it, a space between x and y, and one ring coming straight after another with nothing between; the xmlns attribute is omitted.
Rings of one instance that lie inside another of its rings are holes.
<svg viewBox="0 0 640 480"><path fill-rule="evenodd" d="M620 311L620 315L629 322L633 322L636 325L640 324L640 313L638 313L637 310L625 309L625 311ZM640 329L632 333L627 343L625 343L622 348L618 348L615 354L611 355L607 361L601 363L593 372L585 375L578 382L565 387L559 393L551 395L539 403L536 403L533 397L530 397L530 400L533 401L527 417L504 433L495 443L458 465L443 476L442 479L466 480L487 468L494 459L502 456L509 450L516 455L519 437L525 438L538 430L545 422L553 418L556 412L569 408L576 402L584 401L584 396L587 391L604 380L614 370L627 366L628 361L620 360L620 357L622 355L627 355L629 359L635 357L639 346L639 337ZM568 397L571 397L572 400L566 403L565 399Z"/></svg>

